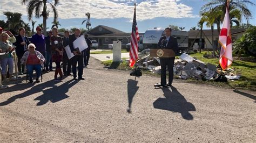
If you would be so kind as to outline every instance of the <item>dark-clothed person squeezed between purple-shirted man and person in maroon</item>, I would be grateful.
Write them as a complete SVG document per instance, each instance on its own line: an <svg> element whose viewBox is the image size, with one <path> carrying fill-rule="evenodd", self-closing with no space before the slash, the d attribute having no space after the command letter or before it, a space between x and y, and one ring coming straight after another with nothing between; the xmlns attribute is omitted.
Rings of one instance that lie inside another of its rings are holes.
<svg viewBox="0 0 256 143"><path fill-rule="evenodd" d="M49 71L53 71L52 70L52 54L51 54L51 36L52 36L52 31L50 30L49 31L49 34L47 37L45 37L45 45L46 45L46 48L45 48L45 51L46 51L46 63L45 63L45 69L46 69L46 72L49 72Z"/></svg>

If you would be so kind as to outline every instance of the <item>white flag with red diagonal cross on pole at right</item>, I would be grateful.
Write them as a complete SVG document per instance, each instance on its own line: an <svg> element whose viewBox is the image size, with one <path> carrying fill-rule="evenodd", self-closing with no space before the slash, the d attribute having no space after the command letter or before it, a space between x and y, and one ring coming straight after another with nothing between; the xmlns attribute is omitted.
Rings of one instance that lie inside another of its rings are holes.
<svg viewBox="0 0 256 143"><path fill-rule="evenodd" d="M221 45L219 64L223 70L231 66L232 58L232 37L230 31L230 16L228 13L229 0L227 0L226 14L223 26L220 31L219 44Z"/></svg>

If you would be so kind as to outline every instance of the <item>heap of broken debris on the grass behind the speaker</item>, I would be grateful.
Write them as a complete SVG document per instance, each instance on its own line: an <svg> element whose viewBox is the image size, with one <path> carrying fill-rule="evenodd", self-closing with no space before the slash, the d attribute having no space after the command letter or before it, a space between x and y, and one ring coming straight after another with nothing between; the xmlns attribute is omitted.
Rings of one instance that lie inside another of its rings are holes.
<svg viewBox="0 0 256 143"><path fill-rule="evenodd" d="M140 69L147 69L152 73L161 74L160 59L150 56L150 49L145 49L139 54L140 60L137 61L137 66ZM192 57L186 53L180 55L179 59L174 61L174 75L181 79L196 78L198 80L215 80L220 75L220 69L211 63L205 63ZM241 74L234 73L234 70L229 68L222 71L228 80L238 80Z"/></svg>

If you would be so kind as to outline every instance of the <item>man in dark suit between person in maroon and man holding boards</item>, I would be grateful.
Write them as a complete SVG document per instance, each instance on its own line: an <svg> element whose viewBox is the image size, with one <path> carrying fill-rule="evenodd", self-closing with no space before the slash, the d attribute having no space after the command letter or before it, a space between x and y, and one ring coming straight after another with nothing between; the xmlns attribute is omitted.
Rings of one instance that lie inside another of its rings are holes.
<svg viewBox="0 0 256 143"><path fill-rule="evenodd" d="M62 42L63 42L63 46L66 47L69 45L69 31L66 30L64 32L65 37L62 38ZM63 63L63 73L64 76L69 76L71 75L71 65L72 65L72 61L71 59L69 60L68 55L66 54L65 48L64 48L64 52L63 52L63 59L62 59L62 63Z"/></svg>

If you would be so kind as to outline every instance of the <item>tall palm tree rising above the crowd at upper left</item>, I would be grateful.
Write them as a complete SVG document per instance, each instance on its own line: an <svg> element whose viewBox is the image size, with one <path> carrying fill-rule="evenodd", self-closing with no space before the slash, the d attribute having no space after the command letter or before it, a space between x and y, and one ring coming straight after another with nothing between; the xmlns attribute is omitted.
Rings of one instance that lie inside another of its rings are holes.
<svg viewBox="0 0 256 143"><path fill-rule="evenodd" d="M49 17L49 10L47 10L47 4L49 4L52 8L53 12L53 22L57 21L58 18L58 12L56 9L56 5L59 3L59 0L53 1L54 3L51 3L49 0L22 0L22 4L28 3L28 18L29 20L32 19L33 11L35 11L36 18L43 17L43 27L46 27L46 19ZM41 11L41 8L43 6L43 11ZM44 30L44 35L46 35L46 28Z"/></svg>

